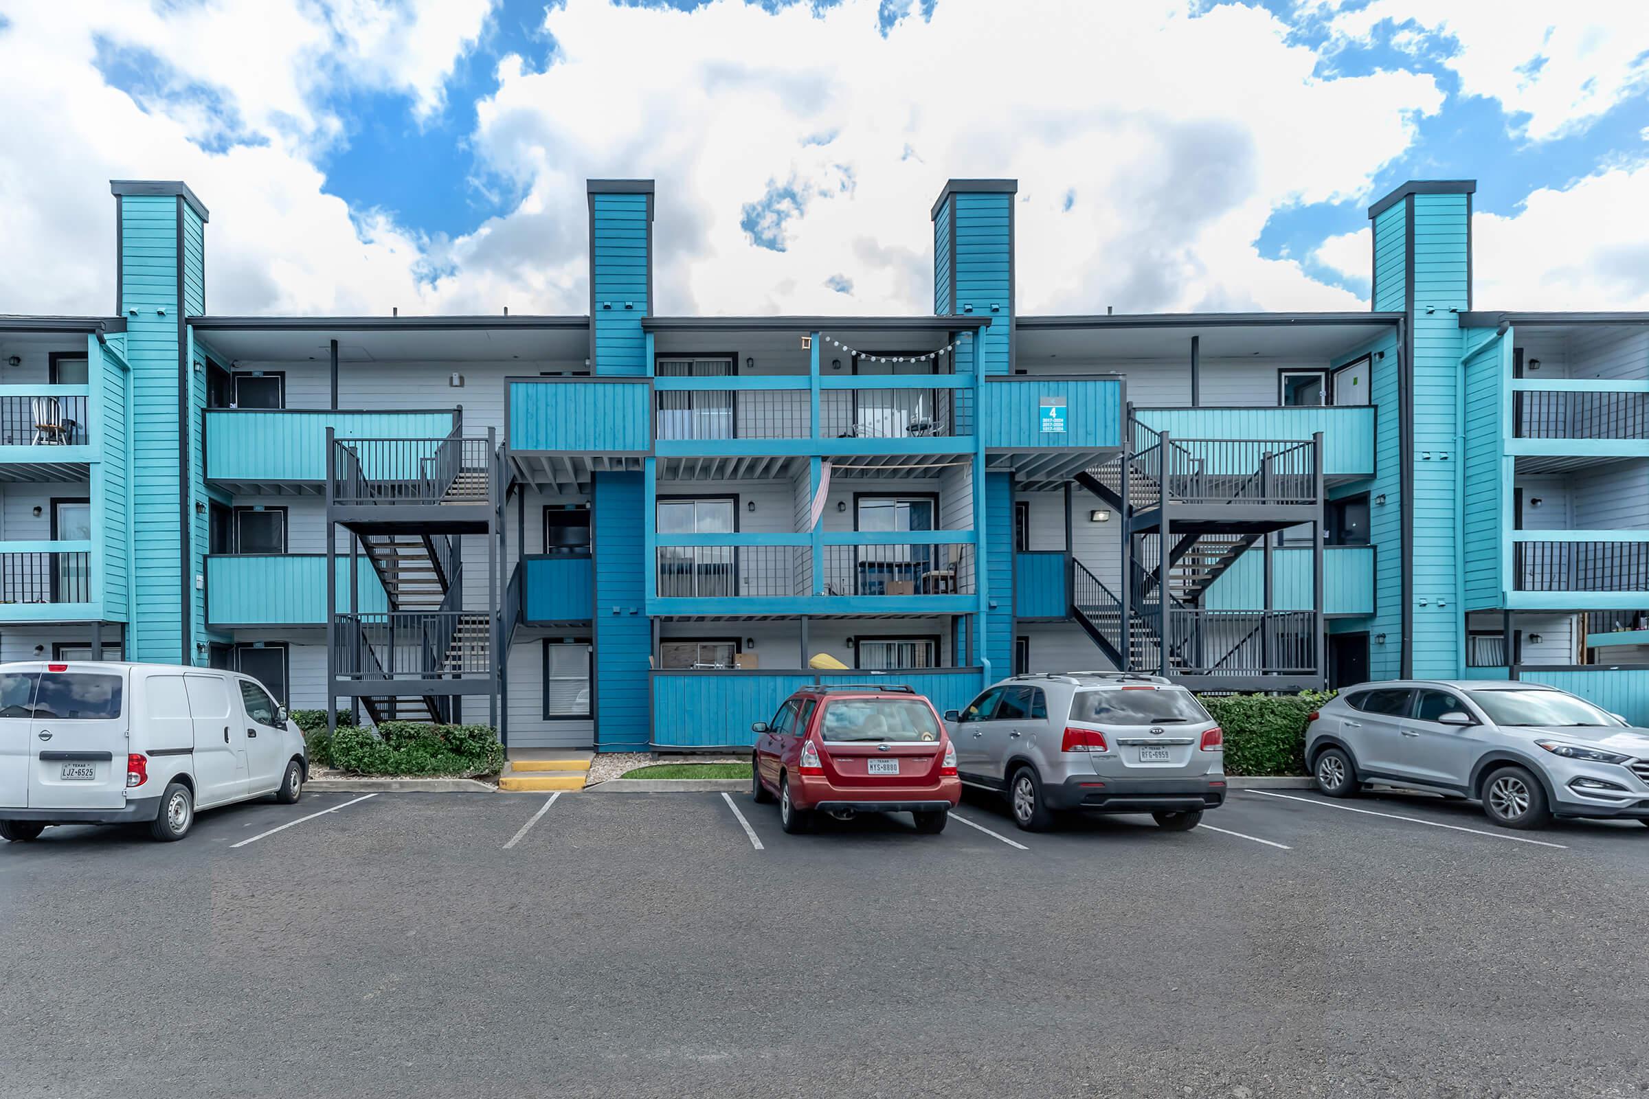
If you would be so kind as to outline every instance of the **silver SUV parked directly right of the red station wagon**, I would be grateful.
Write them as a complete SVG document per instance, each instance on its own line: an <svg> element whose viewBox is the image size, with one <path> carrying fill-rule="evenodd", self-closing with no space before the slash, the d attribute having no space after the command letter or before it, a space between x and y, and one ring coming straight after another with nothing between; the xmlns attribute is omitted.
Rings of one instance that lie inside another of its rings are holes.
<svg viewBox="0 0 1649 1099"><path fill-rule="evenodd" d="M945 727L961 781L1006 794L1026 830L1064 809L1149 812L1184 830L1225 801L1219 725L1159 676L1014 676L947 712Z"/></svg>

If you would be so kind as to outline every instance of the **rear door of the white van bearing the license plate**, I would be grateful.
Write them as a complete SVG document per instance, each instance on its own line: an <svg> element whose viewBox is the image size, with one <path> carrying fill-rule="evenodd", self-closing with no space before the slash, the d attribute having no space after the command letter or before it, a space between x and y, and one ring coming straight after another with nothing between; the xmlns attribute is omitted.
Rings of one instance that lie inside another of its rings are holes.
<svg viewBox="0 0 1649 1099"><path fill-rule="evenodd" d="M46 664L30 718L30 809L125 804L125 669Z"/></svg>

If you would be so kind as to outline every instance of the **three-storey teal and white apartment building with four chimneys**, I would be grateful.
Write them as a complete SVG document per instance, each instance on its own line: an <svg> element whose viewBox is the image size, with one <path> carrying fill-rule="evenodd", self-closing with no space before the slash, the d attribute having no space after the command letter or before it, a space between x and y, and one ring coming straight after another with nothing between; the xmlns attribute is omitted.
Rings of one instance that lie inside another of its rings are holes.
<svg viewBox="0 0 1649 1099"><path fill-rule="evenodd" d="M1479 308L1473 191L1370 208L1354 313L1021 315L1014 181L951 180L932 315L661 316L592 180L587 315L224 316L206 206L115 181L114 313L0 316L0 659L600 750L1078 667L1649 723L1649 315Z"/></svg>

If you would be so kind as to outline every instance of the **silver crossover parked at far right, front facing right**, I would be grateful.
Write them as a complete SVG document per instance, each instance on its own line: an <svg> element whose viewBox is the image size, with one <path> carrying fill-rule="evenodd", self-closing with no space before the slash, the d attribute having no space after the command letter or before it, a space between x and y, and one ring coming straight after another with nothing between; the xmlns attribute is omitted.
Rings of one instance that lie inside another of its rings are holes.
<svg viewBox="0 0 1649 1099"><path fill-rule="evenodd" d="M1552 816L1649 824L1649 730L1540 684L1347 687L1313 715L1306 765L1331 797L1370 781L1435 789L1481 801L1509 829Z"/></svg>

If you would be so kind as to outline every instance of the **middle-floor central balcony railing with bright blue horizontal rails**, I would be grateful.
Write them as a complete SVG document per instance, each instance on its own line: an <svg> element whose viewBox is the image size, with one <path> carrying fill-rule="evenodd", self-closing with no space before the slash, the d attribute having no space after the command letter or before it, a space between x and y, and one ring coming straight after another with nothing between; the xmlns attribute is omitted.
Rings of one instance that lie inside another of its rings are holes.
<svg viewBox="0 0 1649 1099"><path fill-rule="evenodd" d="M650 615L953 615L971 531L656 535Z"/></svg>

